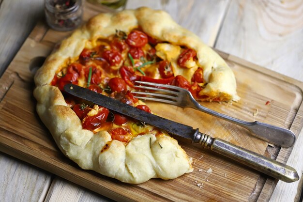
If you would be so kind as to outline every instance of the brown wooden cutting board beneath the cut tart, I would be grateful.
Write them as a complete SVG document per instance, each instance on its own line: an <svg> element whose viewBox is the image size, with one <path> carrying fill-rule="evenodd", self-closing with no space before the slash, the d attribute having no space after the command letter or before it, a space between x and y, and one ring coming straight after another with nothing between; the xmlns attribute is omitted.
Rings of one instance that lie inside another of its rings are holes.
<svg viewBox="0 0 303 202"><path fill-rule="evenodd" d="M86 10L85 19L95 14ZM0 78L0 151L117 201L242 202L269 199L275 180L177 137L182 148L193 157L194 171L174 180L152 179L140 185L129 185L93 171L81 170L65 157L40 121L32 91L36 68L69 34L50 30L44 22L39 23ZM232 104L202 105L246 121L290 128L298 135L303 127L303 83L228 54L219 54L234 71L242 99ZM198 127L212 137L220 137L281 162L287 162L291 153L291 148L268 145L239 126L194 109L151 102L148 105L160 116ZM209 169L212 172L207 172Z"/></svg>

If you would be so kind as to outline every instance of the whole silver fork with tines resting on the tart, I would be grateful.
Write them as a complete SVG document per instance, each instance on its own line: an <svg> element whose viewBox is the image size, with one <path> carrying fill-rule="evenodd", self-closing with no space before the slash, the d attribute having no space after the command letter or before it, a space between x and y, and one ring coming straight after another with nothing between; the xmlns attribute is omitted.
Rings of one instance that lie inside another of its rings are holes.
<svg viewBox="0 0 303 202"><path fill-rule="evenodd" d="M233 124L240 125L249 130L254 136L266 140L270 143L281 147L291 147L295 140L295 134L286 128L278 127L271 124L265 124L262 122L247 122L234 117L227 116L212 109L201 106L192 94L183 88L171 85L164 85L158 83L151 83L145 81L136 81L136 89L144 90L144 92L132 92L135 93L135 97L143 100L152 100L157 102L164 102L172 105L176 105L182 108L193 108L217 118L226 120ZM148 91L154 91L153 93ZM145 95L145 96L137 96Z"/></svg>

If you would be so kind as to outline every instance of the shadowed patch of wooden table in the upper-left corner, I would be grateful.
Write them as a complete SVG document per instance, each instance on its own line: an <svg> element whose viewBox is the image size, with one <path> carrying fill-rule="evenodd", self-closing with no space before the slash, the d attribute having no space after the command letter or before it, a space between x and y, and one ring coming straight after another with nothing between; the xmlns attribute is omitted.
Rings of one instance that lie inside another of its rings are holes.
<svg viewBox="0 0 303 202"><path fill-rule="evenodd" d="M16 15L18 14L18 15ZM0 76L30 31L44 15L42 0L2 0L0 4Z"/></svg>

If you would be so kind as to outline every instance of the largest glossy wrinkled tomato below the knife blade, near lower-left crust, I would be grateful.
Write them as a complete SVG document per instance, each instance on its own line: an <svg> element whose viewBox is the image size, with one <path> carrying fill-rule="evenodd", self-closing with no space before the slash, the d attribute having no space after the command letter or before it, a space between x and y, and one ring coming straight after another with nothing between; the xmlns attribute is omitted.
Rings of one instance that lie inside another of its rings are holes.
<svg viewBox="0 0 303 202"><path fill-rule="evenodd" d="M101 107L96 115L85 116L82 121L83 128L88 130L94 130L99 128L103 123L106 122L108 113L108 109Z"/></svg>

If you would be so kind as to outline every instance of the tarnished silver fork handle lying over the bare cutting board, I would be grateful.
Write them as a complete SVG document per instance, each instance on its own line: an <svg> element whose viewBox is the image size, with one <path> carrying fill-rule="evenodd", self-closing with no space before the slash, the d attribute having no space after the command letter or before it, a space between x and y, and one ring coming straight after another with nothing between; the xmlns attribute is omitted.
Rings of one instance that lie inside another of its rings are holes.
<svg viewBox="0 0 303 202"><path fill-rule="evenodd" d="M281 147L291 147L294 142L296 141L295 134L286 128L278 127L271 124L265 124L262 122L247 122L240 119L236 119L230 116L227 116L225 114L219 113L217 111L213 111L212 109L208 109L206 107L201 106L197 103L195 105L195 109L198 109L200 111L203 111L205 113L208 113L210 115L213 115L217 118L226 120L228 122L231 122L233 124L240 125L247 130L249 130L254 136L266 140L270 143L273 143L275 145L281 146Z"/></svg>

